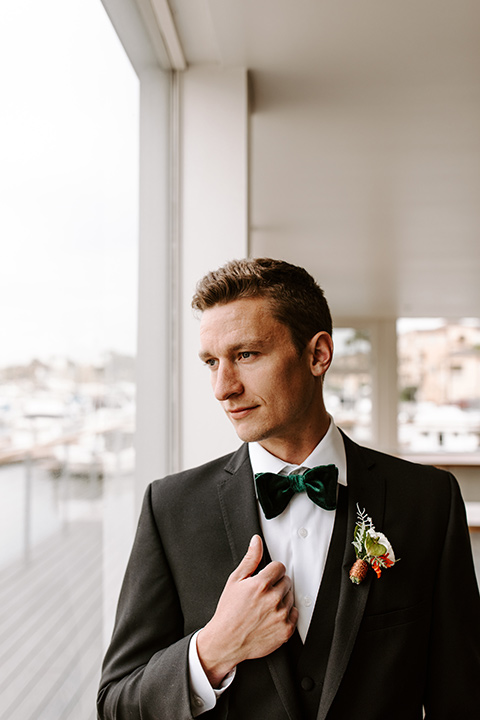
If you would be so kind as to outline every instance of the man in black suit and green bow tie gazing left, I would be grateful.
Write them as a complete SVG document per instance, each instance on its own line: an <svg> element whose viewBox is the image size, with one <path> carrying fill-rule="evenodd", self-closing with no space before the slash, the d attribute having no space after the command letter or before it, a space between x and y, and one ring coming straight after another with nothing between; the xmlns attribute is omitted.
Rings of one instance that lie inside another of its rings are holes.
<svg viewBox="0 0 480 720"><path fill-rule="evenodd" d="M193 306L244 444L148 488L100 718L476 717L480 599L455 479L336 428L330 312L302 268L228 263Z"/></svg>

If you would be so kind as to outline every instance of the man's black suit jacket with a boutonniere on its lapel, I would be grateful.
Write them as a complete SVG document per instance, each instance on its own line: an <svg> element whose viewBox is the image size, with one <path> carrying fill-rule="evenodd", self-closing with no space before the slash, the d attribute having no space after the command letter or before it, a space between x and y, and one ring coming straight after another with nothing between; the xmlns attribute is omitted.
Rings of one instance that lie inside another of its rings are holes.
<svg viewBox="0 0 480 720"><path fill-rule="evenodd" d="M347 497L337 509L302 667L317 689L315 708L302 701L311 687L302 687L289 643L241 663L205 720L420 720L423 709L427 720L478 716L480 599L458 485L444 471L348 438L345 446ZM357 504L400 561L380 579L370 570L353 585ZM246 446L148 488L104 662L102 720L192 717L190 637L212 617L255 533L261 530ZM331 624L326 649L324 613ZM315 658L322 653L320 667Z"/></svg>

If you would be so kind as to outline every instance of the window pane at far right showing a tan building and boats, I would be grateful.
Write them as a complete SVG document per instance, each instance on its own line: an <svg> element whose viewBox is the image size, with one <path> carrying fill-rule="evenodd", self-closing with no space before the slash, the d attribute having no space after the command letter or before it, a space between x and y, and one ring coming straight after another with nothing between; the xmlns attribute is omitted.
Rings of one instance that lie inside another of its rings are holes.
<svg viewBox="0 0 480 720"><path fill-rule="evenodd" d="M407 452L480 448L480 320L398 321L399 442Z"/></svg>

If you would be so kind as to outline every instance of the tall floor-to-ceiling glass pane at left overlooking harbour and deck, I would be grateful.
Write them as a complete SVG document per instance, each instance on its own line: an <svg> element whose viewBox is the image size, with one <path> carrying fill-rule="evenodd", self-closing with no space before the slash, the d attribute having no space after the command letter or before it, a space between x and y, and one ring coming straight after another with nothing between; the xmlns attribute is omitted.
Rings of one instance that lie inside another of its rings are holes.
<svg viewBox="0 0 480 720"><path fill-rule="evenodd" d="M104 538L133 523L138 79L100 0L2 3L0 57L0 715L94 720Z"/></svg>

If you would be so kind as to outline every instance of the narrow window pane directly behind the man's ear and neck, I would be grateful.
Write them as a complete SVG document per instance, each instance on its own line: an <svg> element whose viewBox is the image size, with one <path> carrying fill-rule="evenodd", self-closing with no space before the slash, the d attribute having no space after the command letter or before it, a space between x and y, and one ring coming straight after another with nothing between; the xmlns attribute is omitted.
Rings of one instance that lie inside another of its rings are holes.
<svg viewBox="0 0 480 720"><path fill-rule="evenodd" d="M333 363L325 377L325 404L358 442L372 439L371 341L368 330L334 328Z"/></svg>

